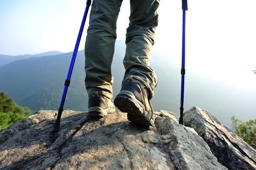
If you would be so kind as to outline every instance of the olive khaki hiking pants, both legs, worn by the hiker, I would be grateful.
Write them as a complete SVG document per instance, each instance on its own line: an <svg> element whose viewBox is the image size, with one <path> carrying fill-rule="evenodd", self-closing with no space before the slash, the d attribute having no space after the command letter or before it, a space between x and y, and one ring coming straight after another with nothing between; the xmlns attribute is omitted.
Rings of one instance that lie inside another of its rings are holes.
<svg viewBox="0 0 256 170"><path fill-rule="evenodd" d="M160 0L130 0L130 23L126 33L126 51L123 59L125 75L122 84L130 76L141 81L153 98L157 77L149 66L154 33L158 25ZM88 96L98 92L113 97L111 63L116 42L116 20L122 0L93 0L89 27L84 47L85 86Z"/></svg>

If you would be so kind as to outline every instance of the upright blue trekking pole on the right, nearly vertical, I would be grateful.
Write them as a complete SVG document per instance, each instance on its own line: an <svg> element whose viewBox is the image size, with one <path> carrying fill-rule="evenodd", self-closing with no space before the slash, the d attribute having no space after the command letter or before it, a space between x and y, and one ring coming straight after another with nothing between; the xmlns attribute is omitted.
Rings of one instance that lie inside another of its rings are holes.
<svg viewBox="0 0 256 170"><path fill-rule="evenodd" d="M181 95L180 95L180 120L179 120L179 124L183 125L184 81L185 81L185 26L186 26L186 11L188 10L187 0L182 0L182 10L183 10L182 63L181 63Z"/></svg>

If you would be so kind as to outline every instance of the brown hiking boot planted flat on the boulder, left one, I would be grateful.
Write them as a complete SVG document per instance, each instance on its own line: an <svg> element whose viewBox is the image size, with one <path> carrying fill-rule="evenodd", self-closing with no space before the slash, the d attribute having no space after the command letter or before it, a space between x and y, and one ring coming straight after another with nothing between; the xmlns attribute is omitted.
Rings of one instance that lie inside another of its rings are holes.
<svg viewBox="0 0 256 170"><path fill-rule="evenodd" d="M90 95L88 102L88 116L91 118L103 118L108 115L108 113L114 112L115 106L111 98L98 95L98 92Z"/></svg>

